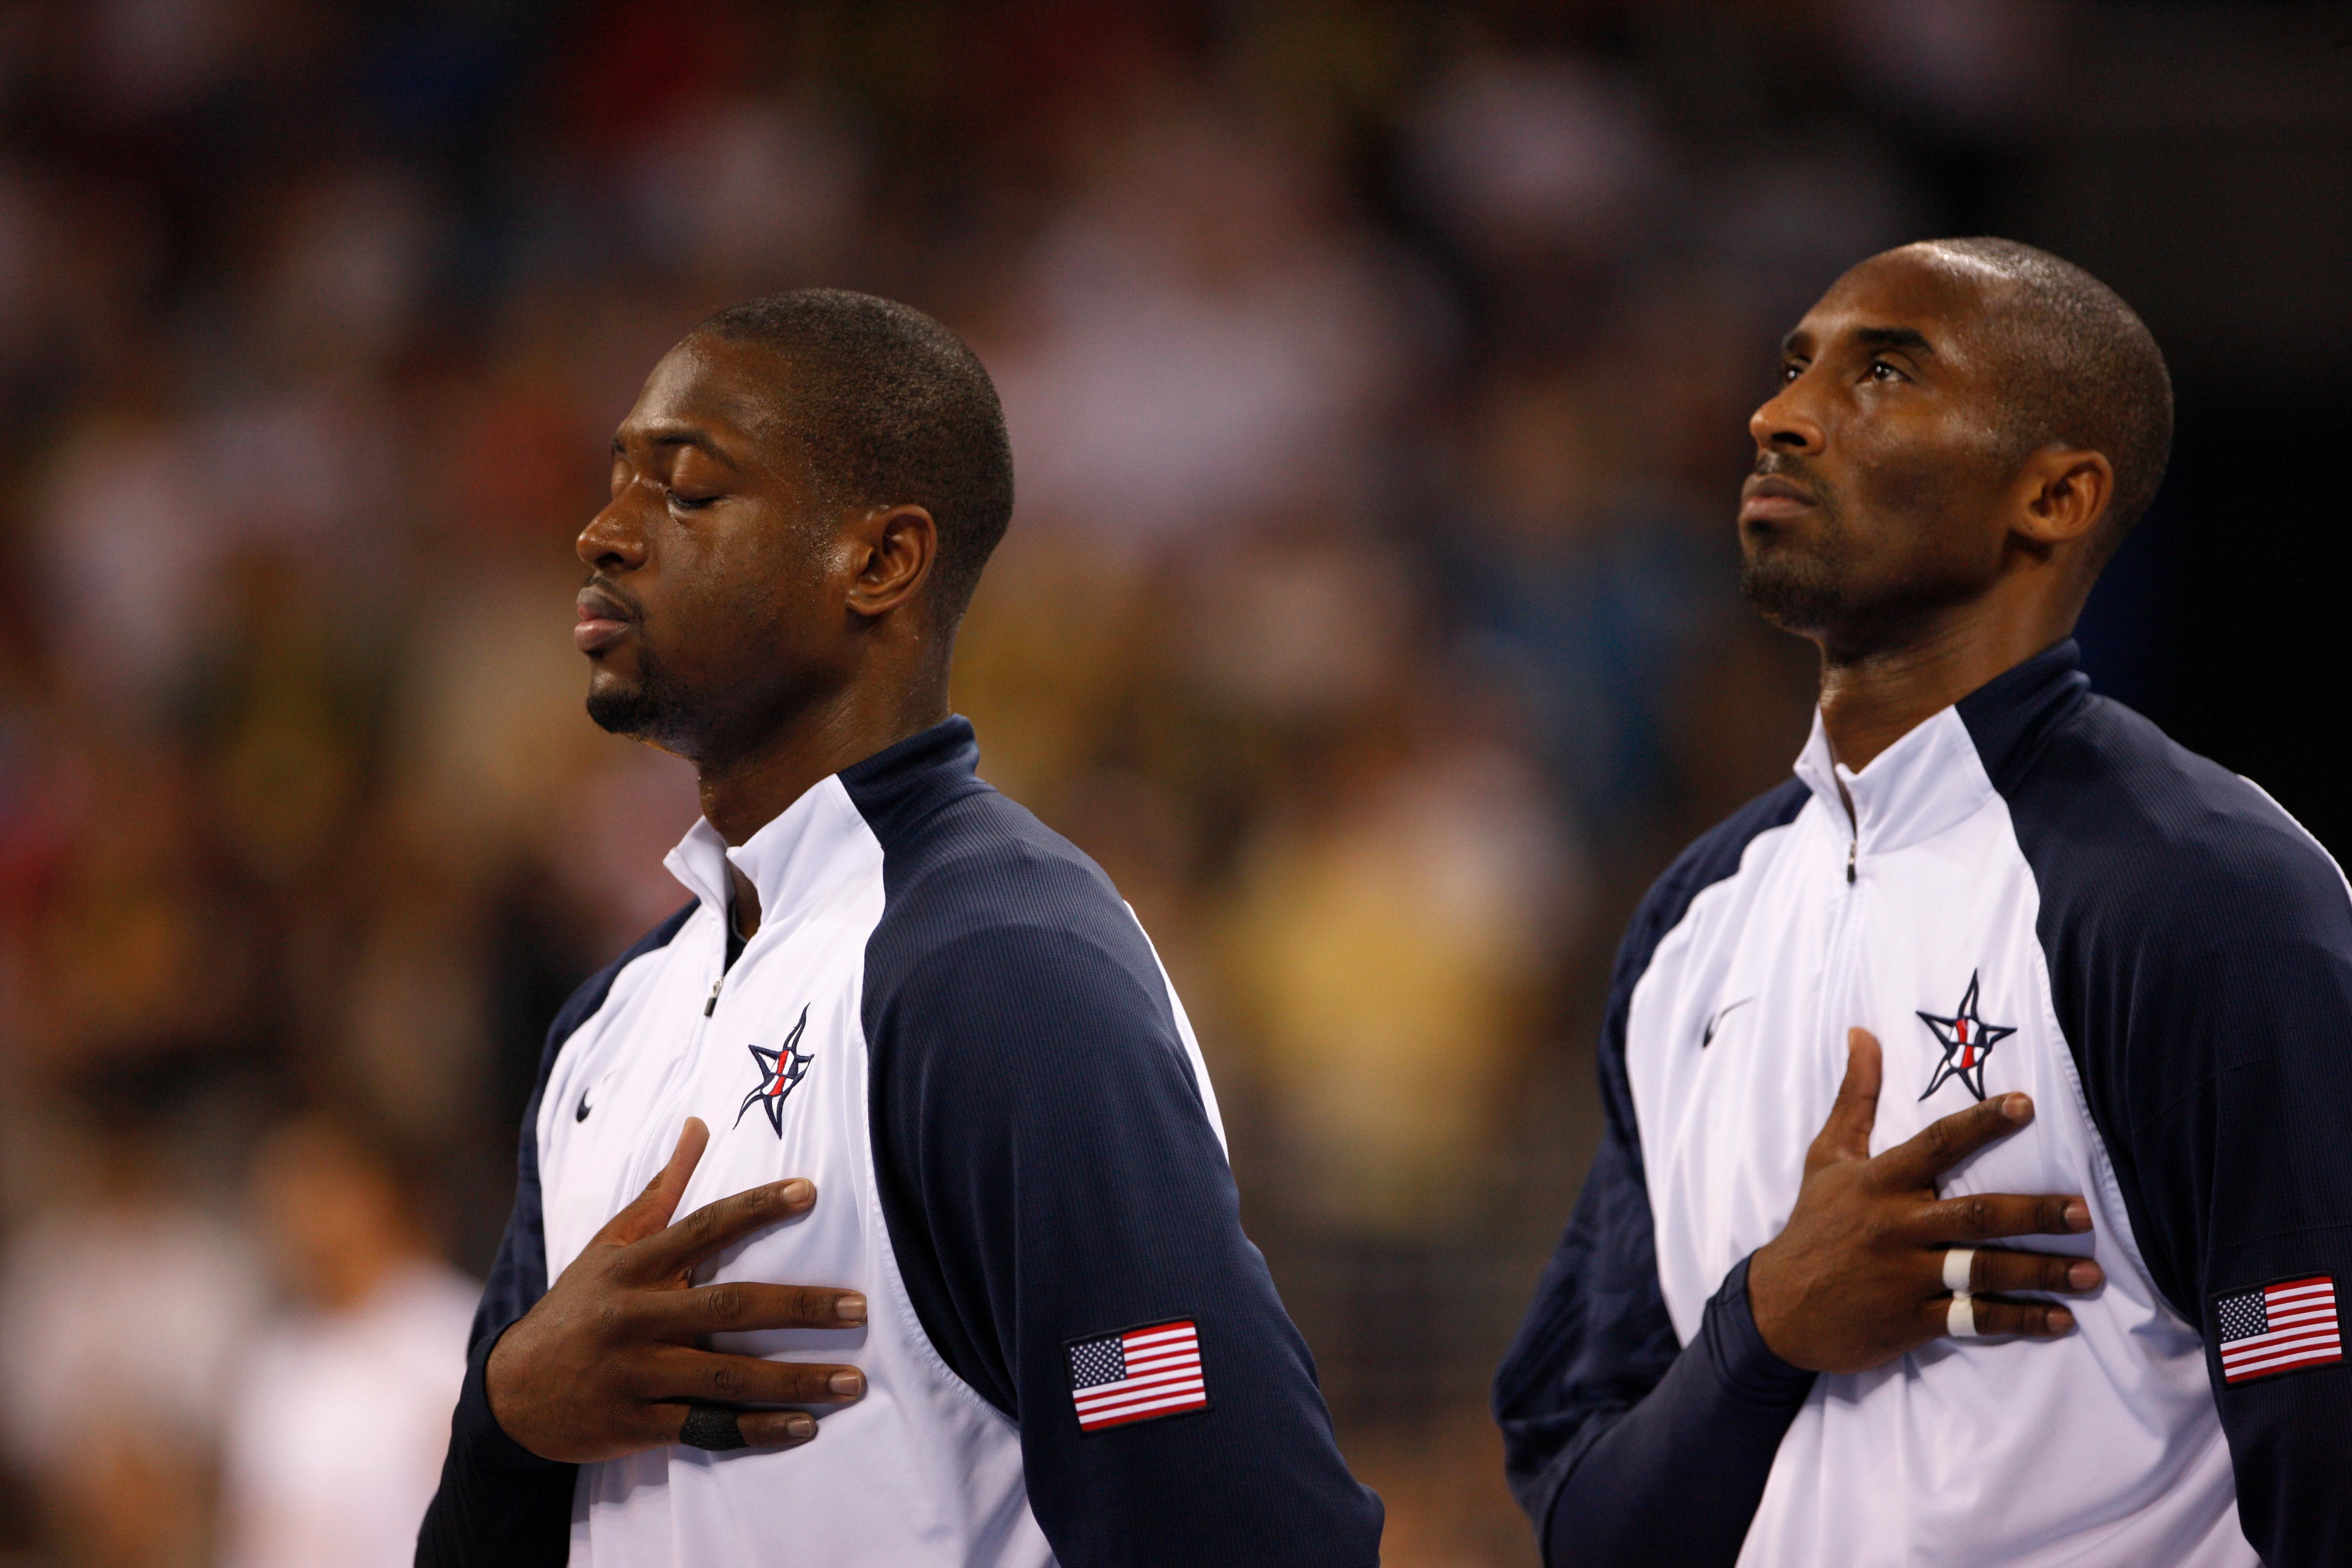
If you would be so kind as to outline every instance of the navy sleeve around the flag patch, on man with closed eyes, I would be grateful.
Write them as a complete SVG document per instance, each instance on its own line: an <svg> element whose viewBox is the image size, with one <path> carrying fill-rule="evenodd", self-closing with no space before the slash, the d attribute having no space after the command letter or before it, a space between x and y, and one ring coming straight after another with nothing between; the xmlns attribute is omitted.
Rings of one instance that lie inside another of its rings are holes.
<svg viewBox="0 0 2352 1568"><path fill-rule="evenodd" d="M1077 875L1030 863L1016 882ZM941 1356L1018 1422L1065 1568L1371 1568L1381 1502L1348 1474L1242 1234L1150 950L1108 884L1101 903L880 961L875 1150L908 1293ZM1070 1340L1174 1319L1197 1324L1209 1406L1082 1432Z"/></svg>

